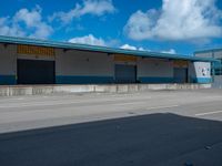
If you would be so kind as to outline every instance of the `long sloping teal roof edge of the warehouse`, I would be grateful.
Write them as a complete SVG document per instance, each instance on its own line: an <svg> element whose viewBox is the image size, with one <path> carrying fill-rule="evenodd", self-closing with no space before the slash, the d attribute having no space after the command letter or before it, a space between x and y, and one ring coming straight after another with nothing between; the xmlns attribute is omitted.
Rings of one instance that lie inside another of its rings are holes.
<svg viewBox="0 0 222 166"><path fill-rule="evenodd" d="M104 53L110 53L110 54L127 54L127 55L143 56L143 58L188 60L188 61L202 61L202 62L216 61L214 59L209 59L209 58L198 58L198 56L190 56L190 55L169 54L169 53L149 52L149 51L123 50L123 49L113 49L113 48L105 48L105 46L95 46L95 45L48 41L48 40L36 40L36 39L29 39L29 38L14 38L14 37L4 37L4 35L0 35L0 43L52 46L52 48L60 48L60 49L68 49L68 50L83 50L83 51L93 51L93 52L104 52Z"/></svg>

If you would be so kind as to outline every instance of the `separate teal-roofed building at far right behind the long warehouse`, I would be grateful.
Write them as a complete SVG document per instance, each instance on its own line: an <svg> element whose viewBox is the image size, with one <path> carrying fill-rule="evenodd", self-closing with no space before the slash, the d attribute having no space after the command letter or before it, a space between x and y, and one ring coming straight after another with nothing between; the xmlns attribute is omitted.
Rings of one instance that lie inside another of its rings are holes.
<svg viewBox="0 0 222 166"><path fill-rule="evenodd" d="M222 89L222 49L196 51L194 54L199 58L210 58L218 60L218 62L212 64L212 86Z"/></svg>

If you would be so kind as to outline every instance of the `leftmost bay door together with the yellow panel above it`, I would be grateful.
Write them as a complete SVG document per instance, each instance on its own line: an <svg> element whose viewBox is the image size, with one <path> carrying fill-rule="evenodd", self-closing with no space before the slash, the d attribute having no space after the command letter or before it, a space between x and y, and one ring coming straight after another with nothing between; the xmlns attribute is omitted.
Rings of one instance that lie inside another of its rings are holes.
<svg viewBox="0 0 222 166"><path fill-rule="evenodd" d="M53 48L19 44L17 53L18 84L56 83L56 54Z"/></svg>

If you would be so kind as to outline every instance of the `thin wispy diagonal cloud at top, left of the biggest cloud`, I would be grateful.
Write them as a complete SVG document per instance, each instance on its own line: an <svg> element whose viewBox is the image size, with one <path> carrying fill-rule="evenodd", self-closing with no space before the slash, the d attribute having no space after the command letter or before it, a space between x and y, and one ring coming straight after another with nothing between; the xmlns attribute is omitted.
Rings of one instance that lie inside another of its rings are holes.
<svg viewBox="0 0 222 166"><path fill-rule="evenodd" d="M82 4L77 3L74 9L68 12L56 12L49 18L50 21L58 19L63 23L69 23L73 19L80 18L84 14L103 15L105 13L113 13L115 8L112 0L83 0Z"/></svg>

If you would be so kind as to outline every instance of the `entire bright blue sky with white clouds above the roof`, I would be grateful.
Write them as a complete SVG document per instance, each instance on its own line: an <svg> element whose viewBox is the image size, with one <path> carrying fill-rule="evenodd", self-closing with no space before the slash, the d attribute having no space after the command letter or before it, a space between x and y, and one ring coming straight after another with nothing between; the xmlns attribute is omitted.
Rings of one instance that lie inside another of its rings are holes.
<svg viewBox="0 0 222 166"><path fill-rule="evenodd" d="M0 35L192 54L222 48L222 0L1 0Z"/></svg>

